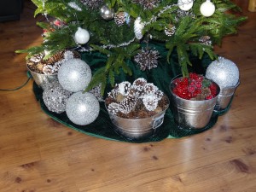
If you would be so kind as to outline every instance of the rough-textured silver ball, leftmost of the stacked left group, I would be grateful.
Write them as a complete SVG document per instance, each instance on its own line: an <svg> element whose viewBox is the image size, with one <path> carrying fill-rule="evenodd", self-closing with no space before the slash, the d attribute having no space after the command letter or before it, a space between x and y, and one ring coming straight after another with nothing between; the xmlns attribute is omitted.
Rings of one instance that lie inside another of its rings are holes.
<svg viewBox="0 0 256 192"><path fill-rule="evenodd" d="M51 112L62 113L66 109L66 103L72 92L63 90L61 84L57 81L49 84L43 92L43 100L45 106Z"/></svg>

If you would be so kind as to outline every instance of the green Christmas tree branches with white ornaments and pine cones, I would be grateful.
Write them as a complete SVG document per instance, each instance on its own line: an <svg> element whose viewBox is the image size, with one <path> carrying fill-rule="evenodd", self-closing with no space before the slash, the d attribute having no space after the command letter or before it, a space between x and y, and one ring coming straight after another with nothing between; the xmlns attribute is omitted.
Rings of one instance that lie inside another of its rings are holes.
<svg viewBox="0 0 256 192"><path fill-rule="evenodd" d="M131 75L127 60L143 71L157 67L160 53L151 43L160 43L168 51L166 63L177 51L183 76L188 76L189 55L200 59L207 54L217 58L213 45L221 44L226 35L246 20L235 15L240 11L229 0L32 0L36 15L47 22L38 22L44 29L40 46L19 53L27 58L44 53L77 48L80 52L100 52L108 58L93 74L87 90L108 83L122 70ZM170 63L168 64L170 65ZM171 63L172 65L172 63Z"/></svg>

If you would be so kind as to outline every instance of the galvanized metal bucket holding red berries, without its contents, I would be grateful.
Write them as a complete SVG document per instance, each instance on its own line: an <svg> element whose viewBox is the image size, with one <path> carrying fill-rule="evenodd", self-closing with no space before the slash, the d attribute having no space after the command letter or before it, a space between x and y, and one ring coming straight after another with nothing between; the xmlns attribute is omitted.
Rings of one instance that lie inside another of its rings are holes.
<svg viewBox="0 0 256 192"><path fill-rule="evenodd" d="M173 93L173 80L174 79L172 79L170 84L172 96L171 108L172 115L177 126L182 129L201 129L207 126L212 117L218 96L203 101L183 99ZM216 85L218 87L218 84Z"/></svg>

